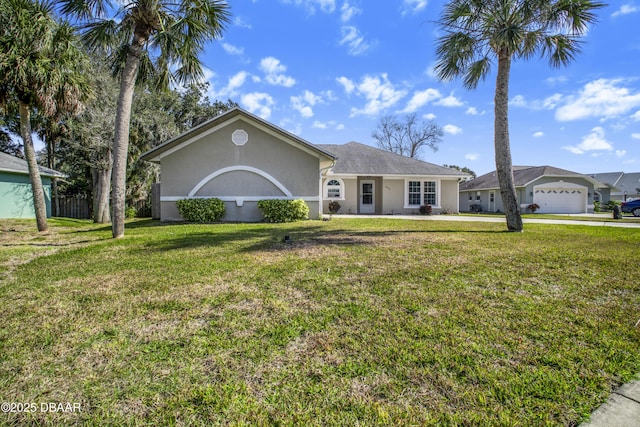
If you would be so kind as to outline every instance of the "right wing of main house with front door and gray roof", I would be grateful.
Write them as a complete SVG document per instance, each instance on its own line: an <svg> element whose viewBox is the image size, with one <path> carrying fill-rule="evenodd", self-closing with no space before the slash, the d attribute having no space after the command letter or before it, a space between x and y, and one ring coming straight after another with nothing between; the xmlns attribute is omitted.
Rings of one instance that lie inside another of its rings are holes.
<svg viewBox="0 0 640 427"><path fill-rule="evenodd" d="M458 213L458 185L464 172L390 153L357 142L319 145L336 155L322 181L323 211L337 200L339 213L413 214L431 205L433 213Z"/></svg>

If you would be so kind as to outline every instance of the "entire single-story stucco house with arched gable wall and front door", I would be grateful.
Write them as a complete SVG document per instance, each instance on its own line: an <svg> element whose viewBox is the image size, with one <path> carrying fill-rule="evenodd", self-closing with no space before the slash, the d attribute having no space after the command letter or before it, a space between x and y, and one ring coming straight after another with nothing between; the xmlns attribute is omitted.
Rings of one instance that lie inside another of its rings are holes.
<svg viewBox="0 0 640 427"><path fill-rule="evenodd" d="M314 145L233 108L142 155L160 165L160 219L182 220L176 202L216 197L224 221L260 221L262 199L302 199L310 217L328 213L458 211L466 174L362 144ZM367 168L368 167L368 168ZM431 203L433 202L433 203Z"/></svg>

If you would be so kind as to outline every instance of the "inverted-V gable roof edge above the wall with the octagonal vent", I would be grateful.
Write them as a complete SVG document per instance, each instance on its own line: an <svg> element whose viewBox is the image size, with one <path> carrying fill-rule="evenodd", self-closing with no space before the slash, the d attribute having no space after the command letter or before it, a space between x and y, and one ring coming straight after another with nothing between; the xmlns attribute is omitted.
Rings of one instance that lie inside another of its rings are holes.
<svg viewBox="0 0 640 427"><path fill-rule="evenodd" d="M310 142L305 141L304 139L287 132L286 130L275 126L266 120L259 118L239 107L232 108L206 122L195 126L194 128L188 130L185 133L182 133L170 140L158 145L155 148L143 153L141 158L142 160L147 160L151 162L159 162L162 157L173 153L181 148L189 145L190 143L206 136L212 132L215 132L217 129L221 127L227 126L231 123L239 119L244 119L250 122L252 125L262 129L263 131L277 136L279 139L290 143L292 145L297 145L299 148L310 151L320 157L325 157L333 160L335 156L331 153L319 148L318 146L311 144Z"/></svg>

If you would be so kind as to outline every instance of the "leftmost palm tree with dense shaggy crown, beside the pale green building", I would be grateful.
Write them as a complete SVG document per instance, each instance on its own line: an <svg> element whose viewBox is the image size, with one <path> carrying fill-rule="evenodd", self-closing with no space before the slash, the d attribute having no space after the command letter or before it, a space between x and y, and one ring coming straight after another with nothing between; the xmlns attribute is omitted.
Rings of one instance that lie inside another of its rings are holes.
<svg viewBox="0 0 640 427"><path fill-rule="evenodd" d="M89 93L85 55L73 28L57 22L49 3L0 0L0 108L16 111L29 166L39 231L46 231L47 211L32 140L31 114L53 117L76 113Z"/></svg>

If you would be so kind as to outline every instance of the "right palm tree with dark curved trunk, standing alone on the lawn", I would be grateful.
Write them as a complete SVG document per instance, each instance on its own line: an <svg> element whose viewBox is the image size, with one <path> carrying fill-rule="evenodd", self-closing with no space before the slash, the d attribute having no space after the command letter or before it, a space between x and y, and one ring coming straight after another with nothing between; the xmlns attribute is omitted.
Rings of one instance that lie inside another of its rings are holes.
<svg viewBox="0 0 640 427"><path fill-rule="evenodd" d="M509 231L523 229L509 144L511 62L540 54L552 67L569 64L603 6L592 0L452 0L438 21L445 35L437 41L435 70L442 80L461 76L473 89L497 60L495 162Z"/></svg>

